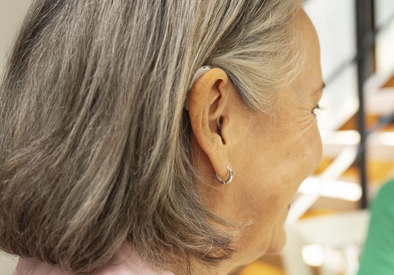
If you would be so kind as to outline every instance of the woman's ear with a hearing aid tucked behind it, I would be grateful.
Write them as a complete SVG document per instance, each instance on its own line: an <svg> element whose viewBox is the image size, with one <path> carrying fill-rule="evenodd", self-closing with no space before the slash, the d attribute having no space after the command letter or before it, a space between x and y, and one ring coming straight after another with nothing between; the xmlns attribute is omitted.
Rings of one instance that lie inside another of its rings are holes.
<svg viewBox="0 0 394 275"><path fill-rule="evenodd" d="M224 109L230 89L226 72L212 68L197 78L188 97L193 134L221 179L229 178L226 165L231 167L227 146L230 144L230 116Z"/></svg>

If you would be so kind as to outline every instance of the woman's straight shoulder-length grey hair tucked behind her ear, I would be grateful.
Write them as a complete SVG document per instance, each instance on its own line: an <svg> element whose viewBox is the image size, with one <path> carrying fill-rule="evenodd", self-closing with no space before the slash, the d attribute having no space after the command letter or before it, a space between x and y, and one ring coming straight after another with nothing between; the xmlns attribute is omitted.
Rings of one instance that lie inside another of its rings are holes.
<svg viewBox="0 0 394 275"><path fill-rule="evenodd" d="M301 6L35 0L1 76L0 249L74 274L125 241L163 270L229 260L245 224L201 200L187 87L220 67L247 108L273 112L303 64Z"/></svg>

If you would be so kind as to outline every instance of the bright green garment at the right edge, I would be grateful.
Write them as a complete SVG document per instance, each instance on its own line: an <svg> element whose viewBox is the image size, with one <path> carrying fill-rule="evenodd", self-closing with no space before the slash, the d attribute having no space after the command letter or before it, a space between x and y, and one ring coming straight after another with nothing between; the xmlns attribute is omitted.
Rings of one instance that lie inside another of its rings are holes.
<svg viewBox="0 0 394 275"><path fill-rule="evenodd" d="M394 179L382 185L370 209L358 275L394 275Z"/></svg>

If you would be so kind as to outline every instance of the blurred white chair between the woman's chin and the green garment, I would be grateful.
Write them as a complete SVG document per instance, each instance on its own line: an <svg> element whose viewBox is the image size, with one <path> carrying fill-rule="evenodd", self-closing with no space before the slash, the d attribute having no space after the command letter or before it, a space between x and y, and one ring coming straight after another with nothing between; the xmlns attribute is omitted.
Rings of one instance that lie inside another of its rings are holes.
<svg viewBox="0 0 394 275"><path fill-rule="evenodd" d="M341 257L341 274L356 275L369 219L370 212L365 209L286 224L287 243L281 253L286 274L313 275L311 266L306 263L309 258L315 261L319 274L337 275L338 257Z"/></svg>

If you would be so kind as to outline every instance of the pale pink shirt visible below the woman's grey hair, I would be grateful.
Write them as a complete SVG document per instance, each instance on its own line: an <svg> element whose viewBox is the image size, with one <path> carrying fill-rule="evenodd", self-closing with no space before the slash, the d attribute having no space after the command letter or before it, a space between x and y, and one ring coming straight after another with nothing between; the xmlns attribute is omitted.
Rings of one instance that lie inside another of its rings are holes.
<svg viewBox="0 0 394 275"><path fill-rule="evenodd" d="M58 266L33 258L19 257L12 275L70 275ZM113 259L94 275L174 275L172 272L158 272L134 251L129 243L122 245Z"/></svg>

